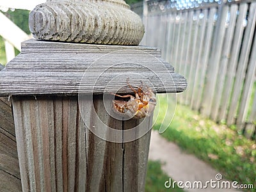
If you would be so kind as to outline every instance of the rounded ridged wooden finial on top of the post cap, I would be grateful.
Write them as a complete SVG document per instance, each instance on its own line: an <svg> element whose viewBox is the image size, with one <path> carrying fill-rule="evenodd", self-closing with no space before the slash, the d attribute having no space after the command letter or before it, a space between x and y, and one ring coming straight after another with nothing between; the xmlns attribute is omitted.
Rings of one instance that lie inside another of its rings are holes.
<svg viewBox="0 0 256 192"><path fill-rule="evenodd" d="M102 8L104 7L104 8ZM47 1L29 14L36 39L138 45L144 26L125 1Z"/></svg>

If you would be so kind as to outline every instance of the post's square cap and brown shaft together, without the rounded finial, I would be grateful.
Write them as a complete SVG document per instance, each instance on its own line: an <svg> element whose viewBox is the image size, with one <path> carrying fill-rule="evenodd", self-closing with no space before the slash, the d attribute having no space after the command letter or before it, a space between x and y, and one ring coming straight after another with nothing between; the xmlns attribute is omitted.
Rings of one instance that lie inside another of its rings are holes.
<svg viewBox="0 0 256 192"><path fill-rule="evenodd" d="M13 99L23 191L143 191L152 116L116 120L102 99L105 92L130 93L128 77L132 85L151 83L158 93L182 92L187 84L157 48L22 43L21 54L0 72L0 95ZM83 101L85 113L79 91L94 93L93 104ZM138 131L130 142L125 134L118 143L102 140L90 132L103 128L96 116L113 129Z"/></svg>

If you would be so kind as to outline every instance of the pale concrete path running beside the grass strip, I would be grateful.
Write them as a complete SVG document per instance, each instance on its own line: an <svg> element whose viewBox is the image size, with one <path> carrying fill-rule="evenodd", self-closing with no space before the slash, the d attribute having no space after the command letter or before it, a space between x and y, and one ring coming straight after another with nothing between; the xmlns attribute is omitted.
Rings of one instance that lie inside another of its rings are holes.
<svg viewBox="0 0 256 192"><path fill-rule="evenodd" d="M204 163L197 157L186 154L172 142L168 142L157 131L152 131L150 149L150 160L160 160L163 164L162 169L168 176L172 177L175 181L201 181L203 186L205 182L216 180L217 174L220 174L209 164ZM226 181L226 179L221 179ZM164 188L163 180L163 188ZM232 182L230 182L232 184ZM235 189L212 189L208 184L207 189L184 189L184 191L238 191Z"/></svg>

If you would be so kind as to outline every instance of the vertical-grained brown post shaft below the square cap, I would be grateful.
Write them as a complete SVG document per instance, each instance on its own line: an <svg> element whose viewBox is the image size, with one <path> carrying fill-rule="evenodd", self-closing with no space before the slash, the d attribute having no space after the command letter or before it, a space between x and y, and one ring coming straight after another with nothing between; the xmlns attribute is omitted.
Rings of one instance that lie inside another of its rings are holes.
<svg viewBox="0 0 256 192"><path fill-rule="evenodd" d="M93 97L94 106L86 100L83 104L88 109L84 116L77 97L13 98L23 191L143 191L152 118L116 120L100 95ZM137 130L148 132L128 143L102 140L88 129L100 125L93 109L113 129L139 125Z"/></svg>

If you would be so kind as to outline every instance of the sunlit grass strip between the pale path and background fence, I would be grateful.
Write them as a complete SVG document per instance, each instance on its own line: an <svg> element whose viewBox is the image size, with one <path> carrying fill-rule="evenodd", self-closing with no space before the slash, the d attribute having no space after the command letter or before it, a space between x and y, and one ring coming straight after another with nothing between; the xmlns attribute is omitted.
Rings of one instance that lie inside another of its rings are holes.
<svg viewBox="0 0 256 192"><path fill-rule="evenodd" d="M164 106L160 97L161 106ZM163 109L161 107L161 109ZM154 129L159 129L164 111ZM177 105L172 124L161 134L181 148L211 164L230 180L256 184L256 143L226 125L218 125L188 107Z"/></svg>

